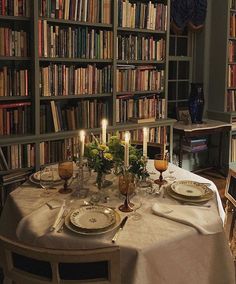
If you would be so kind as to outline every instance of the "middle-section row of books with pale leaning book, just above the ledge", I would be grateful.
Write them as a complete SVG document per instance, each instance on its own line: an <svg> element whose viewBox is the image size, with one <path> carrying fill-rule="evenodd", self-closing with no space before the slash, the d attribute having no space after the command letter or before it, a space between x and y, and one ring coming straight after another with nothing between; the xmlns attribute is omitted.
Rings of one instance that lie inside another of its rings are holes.
<svg viewBox="0 0 236 284"><path fill-rule="evenodd" d="M97 128L103 118L108 118L107 101L80 100L74 105L50 101L40 106L40 132L58 132L80 128Z"/></svg>

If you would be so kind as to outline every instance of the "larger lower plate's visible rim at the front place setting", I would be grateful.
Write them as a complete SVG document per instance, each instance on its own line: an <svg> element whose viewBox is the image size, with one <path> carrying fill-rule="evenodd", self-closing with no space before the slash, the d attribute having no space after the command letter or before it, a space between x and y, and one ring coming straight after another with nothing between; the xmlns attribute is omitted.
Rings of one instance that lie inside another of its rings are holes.
<svg viewBox="0 0 236 284"><path fill-rule="evenodd" d="M114 230L115 228L118 227L118 225L120 224L121 221L121 217L120 214L116 211L115 212L115 223L113 223L110 227L106 227L104 229L100 229L100 230L86 230L86 229L81 229L79 227L74 226L71 222L70 222L70 215L68 215L65 218L65 226L72 232L77 233L77 234L81 234L81 235L88 235L88 236L93 236L93 235L102 235L105 233L108 233L112 230Z"/></svg>

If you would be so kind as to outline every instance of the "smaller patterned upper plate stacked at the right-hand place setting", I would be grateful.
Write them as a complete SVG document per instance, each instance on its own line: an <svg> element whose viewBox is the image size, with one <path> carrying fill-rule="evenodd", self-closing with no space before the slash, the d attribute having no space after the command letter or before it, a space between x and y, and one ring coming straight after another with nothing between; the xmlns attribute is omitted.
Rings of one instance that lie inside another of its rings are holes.
<svg viewBox="0 0 236 284"><path fill-rule="evenodd" d="M191 180L180 180L172 183L171 189L174 193L185 198L200 198L212 192L212 190L204 184Z"/></svg>

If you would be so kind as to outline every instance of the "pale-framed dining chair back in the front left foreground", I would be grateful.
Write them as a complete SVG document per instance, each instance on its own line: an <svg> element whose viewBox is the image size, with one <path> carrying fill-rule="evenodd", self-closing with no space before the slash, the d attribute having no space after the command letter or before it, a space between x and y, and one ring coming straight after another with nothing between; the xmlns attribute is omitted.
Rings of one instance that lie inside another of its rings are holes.
<svg viewBox="0 0 236 284"><path fill-rule="evenodd" d="M37 248L0 236L4 284L120 284L120 249Z"/></svg>

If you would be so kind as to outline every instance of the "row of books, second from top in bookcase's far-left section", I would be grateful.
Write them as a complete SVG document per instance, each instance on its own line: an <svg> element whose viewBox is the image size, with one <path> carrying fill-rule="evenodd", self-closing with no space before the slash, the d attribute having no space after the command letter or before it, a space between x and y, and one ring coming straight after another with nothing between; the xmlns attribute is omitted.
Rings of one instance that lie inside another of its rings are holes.
<svg viewBox="0 0 236 284"><path fill-rule="evenodd" d="M0 27L0 56L29 56L27 32Z"/></svg>

